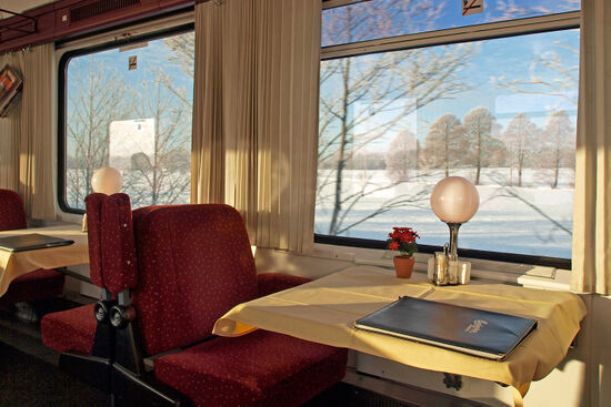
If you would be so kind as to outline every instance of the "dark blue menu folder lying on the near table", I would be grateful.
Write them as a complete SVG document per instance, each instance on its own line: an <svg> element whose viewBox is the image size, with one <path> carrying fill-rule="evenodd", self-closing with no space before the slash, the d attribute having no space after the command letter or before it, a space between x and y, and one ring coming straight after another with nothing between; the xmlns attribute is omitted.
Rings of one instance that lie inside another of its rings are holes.
<svg viewBox="0 0 611 407"><path fill-rule="evenodd" d="M537 320L400 297L358 319L354 327L502 360L537 327Z"/></svg>

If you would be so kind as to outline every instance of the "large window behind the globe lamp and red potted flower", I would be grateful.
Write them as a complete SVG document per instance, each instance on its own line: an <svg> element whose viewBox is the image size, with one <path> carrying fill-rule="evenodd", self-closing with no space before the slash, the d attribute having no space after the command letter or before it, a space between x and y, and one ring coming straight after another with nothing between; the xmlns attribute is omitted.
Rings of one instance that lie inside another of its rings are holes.
<svg viewBox="0 0 611 407"><path fill-rule="evenodd" d="M324 11L317 242L381 247L411 226L440 246L449 232L430 193L460 175L480 193L461 250L570 266L579 13L554 13L579 1L485 1L479 20L429 2L427 27L412 27L422 2Z"/></svg>

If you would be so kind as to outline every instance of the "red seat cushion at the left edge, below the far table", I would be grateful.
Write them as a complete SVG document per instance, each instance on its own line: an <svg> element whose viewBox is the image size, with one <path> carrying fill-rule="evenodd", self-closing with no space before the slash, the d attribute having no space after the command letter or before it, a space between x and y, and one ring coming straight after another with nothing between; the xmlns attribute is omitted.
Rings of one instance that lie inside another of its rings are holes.
<svg viewBox="0 0 611 407"><path fill-rule="evenodd" d="M62 273L44 268L23 274L11 282L0 306L60 296L64 278Z"/></svg>

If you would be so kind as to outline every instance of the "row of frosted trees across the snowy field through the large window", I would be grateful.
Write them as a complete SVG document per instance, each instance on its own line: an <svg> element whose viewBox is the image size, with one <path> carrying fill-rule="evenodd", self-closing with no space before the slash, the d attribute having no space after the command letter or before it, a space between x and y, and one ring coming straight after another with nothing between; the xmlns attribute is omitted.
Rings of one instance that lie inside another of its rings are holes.
<svg viewBox="0 0 611 407"><path fill-rule="evenodd" d="M361 150L344 163L344 170L387 170L392 182L405 182L411 170L474 169L480 183L483 167L509 167L510 185L522 186L525 169L552 170L550 185L558 186L560 169L574 166L575 129L564 110L550 112L543 128L527 113L514 115L501 129L485 108L472 109L461 121L453 114L435 120L421 143L404 130L389 143L388 151ZM320 170L333 170L327 160ZM515 174L515 175L514 175Z"/></svg>

